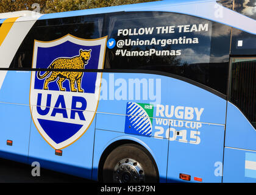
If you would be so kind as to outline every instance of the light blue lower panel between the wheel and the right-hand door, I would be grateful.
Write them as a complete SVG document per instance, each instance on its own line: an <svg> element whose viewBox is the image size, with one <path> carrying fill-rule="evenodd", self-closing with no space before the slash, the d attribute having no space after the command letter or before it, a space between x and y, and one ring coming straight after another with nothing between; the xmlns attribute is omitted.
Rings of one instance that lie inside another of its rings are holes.
<svg viewBox="0 0 256 195"><path fill-rule="evenodd" d="M182 182L179 174L190 175L190 182L221 182L218 168L222 170L224 130L224 126L202 124L197 133L187 129L187 138L195 136L196 142L184 142L182 136L170 141L168 182Z"/></svg>

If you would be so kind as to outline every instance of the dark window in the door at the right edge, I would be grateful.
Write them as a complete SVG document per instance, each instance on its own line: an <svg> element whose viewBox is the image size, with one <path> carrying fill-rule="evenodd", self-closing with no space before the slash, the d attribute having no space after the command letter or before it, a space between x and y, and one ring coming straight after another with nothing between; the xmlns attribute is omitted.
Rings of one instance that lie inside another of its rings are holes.
<svg viewBox="0 0 256 195"><path fill-rule="evenodd" d="M230 101L256 128L256 59L232 59Z"/></svg>

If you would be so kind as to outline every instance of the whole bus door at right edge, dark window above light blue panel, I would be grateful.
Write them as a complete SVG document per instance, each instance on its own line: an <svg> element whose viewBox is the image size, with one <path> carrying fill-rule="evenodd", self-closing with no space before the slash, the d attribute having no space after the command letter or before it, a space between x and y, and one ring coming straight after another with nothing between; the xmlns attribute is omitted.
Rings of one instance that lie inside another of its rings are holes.
<svg viewBox="0 0 256 195"><path fill-rule="evenodd" d="M230 61L223 182L256 182L256 57Z"/></svg>

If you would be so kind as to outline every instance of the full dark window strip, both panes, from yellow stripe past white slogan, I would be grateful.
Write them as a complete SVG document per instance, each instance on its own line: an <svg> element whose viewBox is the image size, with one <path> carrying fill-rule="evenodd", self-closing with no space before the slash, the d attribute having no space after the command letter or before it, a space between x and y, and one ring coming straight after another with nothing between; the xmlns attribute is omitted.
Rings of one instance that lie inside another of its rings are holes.
<svg viewBox="0 0 256 195"><path fill-rule="evenodd" d="M34 40L52 41L66 34L115 39L119 47L107 48L105 68L177 74L226 94L230 27L177 13L119 12L39 20L10 68L31 67ZM120 41L126 46L121 47Z"/></svg>

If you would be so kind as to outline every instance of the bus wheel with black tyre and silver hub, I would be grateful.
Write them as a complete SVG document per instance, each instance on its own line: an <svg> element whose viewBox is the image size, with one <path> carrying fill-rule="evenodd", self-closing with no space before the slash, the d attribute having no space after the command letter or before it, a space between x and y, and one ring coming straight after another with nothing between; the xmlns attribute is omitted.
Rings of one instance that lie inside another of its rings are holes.
<svg viewBox="0 0 256 195"><path fill-rule="evenodd" d="M143 183L158 182L158 171L148 151L137 144L116 147L106 158L103 182Z"/></svg>

